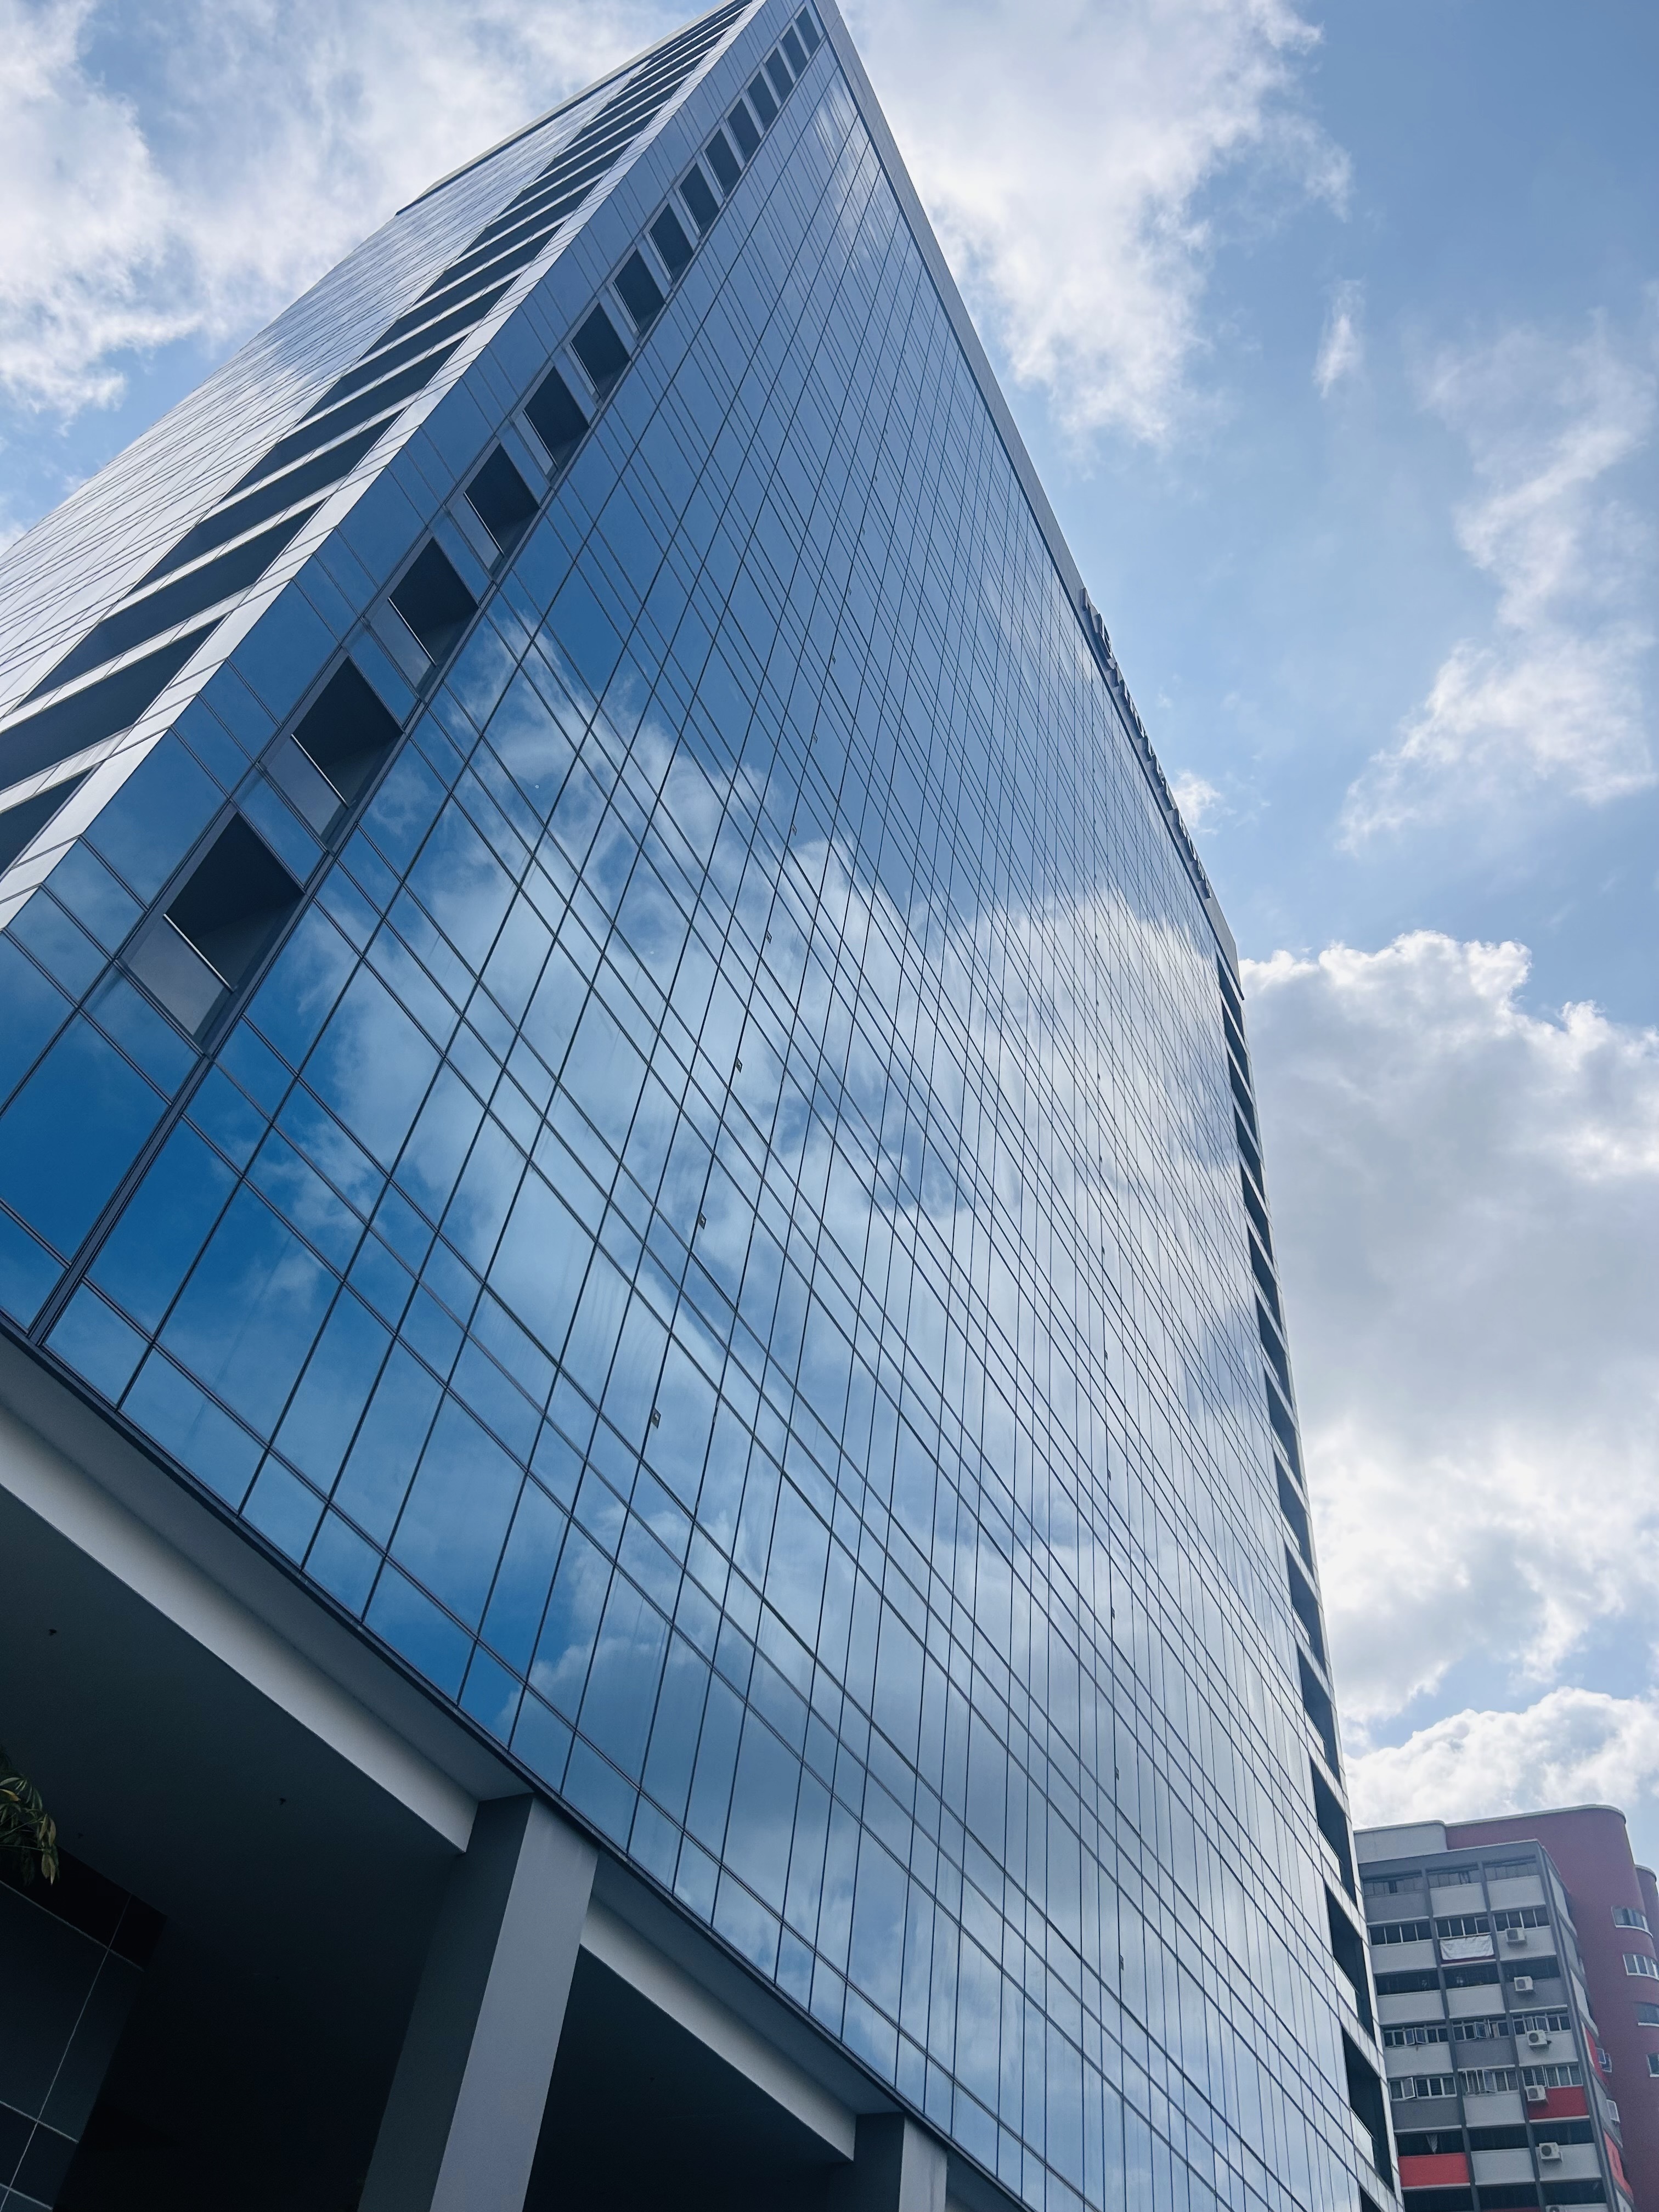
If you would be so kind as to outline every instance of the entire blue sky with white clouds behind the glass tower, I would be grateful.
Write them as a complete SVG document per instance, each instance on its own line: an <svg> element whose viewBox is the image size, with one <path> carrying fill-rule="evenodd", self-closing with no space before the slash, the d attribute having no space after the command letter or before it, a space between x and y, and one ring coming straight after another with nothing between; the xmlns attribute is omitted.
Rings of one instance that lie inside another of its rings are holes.
<svg viewBox="0 0 1659 2212"><path fill-rule="evenodd" d="M646 0L0 0L0 529ZM1250 960L1363 1816L1659 1851L1659 18L849 9Z"/></svg>

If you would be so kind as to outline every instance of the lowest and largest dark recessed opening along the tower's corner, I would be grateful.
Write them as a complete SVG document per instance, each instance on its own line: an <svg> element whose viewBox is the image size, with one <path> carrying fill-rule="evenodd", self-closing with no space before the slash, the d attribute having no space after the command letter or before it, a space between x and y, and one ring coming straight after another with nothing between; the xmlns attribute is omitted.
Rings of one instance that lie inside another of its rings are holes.
<svg viewBox="0 0 1659 2212"><path fill-rule="evenodd" d="M248 980L299 896L270 845L232 814L126 964L184 1029L199 1035L226 993Z"/></svg>

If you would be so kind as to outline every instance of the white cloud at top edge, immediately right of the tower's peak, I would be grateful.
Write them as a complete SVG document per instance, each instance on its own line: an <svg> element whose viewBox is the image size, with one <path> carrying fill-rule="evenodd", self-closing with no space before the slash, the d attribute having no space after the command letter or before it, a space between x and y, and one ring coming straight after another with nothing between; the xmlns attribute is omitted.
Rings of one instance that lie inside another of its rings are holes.
<svg viewBox="0 0 1659 2212"><path fill-rule="evenodd" d="M1290 0L852 7L894 135L1013 376L1060 422L1166 442L1190 405L1214 232L1250 168L1340 201L1296 108L1318 40Z"/></svg>

